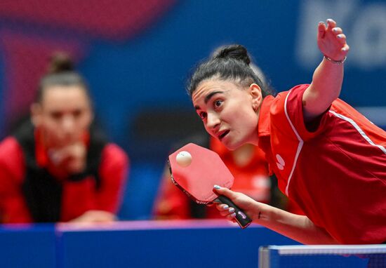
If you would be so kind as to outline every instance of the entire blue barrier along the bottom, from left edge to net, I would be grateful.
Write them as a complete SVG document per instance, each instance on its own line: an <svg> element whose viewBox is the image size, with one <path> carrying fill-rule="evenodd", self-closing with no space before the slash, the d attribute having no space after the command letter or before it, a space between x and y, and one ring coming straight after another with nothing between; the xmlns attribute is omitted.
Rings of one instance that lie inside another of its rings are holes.
<svg viewBox="0 0 386 268"><path fill-rule="evenodd" d="M0 227L1 267L257 267L260 246L295 243L227 220Z"/></svg>

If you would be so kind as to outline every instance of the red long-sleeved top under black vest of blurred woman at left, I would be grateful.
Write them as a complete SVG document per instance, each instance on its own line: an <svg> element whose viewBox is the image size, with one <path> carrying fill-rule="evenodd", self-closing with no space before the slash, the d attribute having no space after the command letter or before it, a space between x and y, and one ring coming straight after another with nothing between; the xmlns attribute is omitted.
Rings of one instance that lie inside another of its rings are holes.
<svg viewBox="0 0 386 268"><path fill-rule="evenodd" d="M39 146L36 146L37 148ZM37 151L36 156L42 159L42 155ZM41 164L41 160L38 163ZM117 145L107 144L102 150L99 166L100 188L98 190L95 189L95 180L92 177L78 182L62 181L60 220L72 220L87 210L105 210L117 213L127 170L126 153ZM15 138L6 138L0 144L0 222L33 221L25 196L22 194L25 172L22 147Z"/></svg>

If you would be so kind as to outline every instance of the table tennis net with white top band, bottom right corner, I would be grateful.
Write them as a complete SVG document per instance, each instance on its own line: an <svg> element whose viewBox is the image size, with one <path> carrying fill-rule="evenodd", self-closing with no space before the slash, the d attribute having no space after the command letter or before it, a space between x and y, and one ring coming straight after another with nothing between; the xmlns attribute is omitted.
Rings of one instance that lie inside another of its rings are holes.
<svg viewBox="0 0 386 268"><path fill-rule="evenodd" d="M386 245L263 246L259 268L386 268Z"/></svg>

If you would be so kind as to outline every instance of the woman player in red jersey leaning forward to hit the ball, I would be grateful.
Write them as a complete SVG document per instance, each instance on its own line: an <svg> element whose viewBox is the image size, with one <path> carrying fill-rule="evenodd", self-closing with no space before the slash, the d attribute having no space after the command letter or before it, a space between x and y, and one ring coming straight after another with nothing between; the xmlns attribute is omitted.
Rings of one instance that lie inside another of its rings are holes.
<svg viewBox="0 0 386 268"><path fill-rule="evenodd" d="M324 55L311 84L276 97L265 91L243 46L220 48L188 86L209 134L228 149L266 154L279 188L302 208L294 215L215 186L254 222L301 243L386 241L386 133L338 99L349 46L336 22L319 22ZM234 213L217 205L229 219ZM232 211L232 210L231 210Z"/></svg>

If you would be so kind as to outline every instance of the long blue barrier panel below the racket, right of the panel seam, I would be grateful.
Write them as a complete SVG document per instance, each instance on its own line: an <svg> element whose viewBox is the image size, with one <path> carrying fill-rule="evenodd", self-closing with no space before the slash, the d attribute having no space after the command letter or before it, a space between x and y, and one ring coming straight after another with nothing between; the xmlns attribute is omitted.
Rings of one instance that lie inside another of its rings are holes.
<svg viewBox="0 0 386 268"><path fill-rule="evenodd" d="M225 220L121 222L109 229L61 227L60 268L257 267L262 245L295 244L257 225Z"/></svg>

